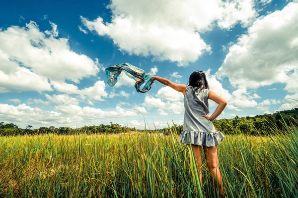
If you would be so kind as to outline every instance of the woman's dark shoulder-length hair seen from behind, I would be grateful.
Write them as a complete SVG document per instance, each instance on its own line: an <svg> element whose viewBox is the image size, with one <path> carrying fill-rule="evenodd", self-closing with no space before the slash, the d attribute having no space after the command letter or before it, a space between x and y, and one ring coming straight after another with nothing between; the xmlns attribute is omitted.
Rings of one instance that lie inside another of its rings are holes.
<svg viewBox="0 0 298 198"><path fill-rule="evenodd" d="M195 88L195 91L197 89L209 90L209 85L205 73L199 70L194 71L189 77L188 86L192 86L193 88Z"/></svg>

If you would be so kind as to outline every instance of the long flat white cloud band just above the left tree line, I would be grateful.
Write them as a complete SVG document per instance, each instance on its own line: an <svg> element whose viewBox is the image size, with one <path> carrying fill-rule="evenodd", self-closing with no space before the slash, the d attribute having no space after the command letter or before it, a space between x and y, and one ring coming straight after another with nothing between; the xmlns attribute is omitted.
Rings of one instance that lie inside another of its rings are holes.
<svg viewBox="0 0 298 198"><path fill-rule="evenodd" d="M14 122L21 124L23 127L26 124L40 125L59 125L73 126L74 124L85 125L88 122L96 121L103 118L115 117L133 117L137 116L135 111L127 110L116 106L115 109L102 110L89 106L80 107L78 105L58 105L55 111L45 111L37 107L30 107L26 104L17 106L0 104L0 120L4 122Z"/></svg>

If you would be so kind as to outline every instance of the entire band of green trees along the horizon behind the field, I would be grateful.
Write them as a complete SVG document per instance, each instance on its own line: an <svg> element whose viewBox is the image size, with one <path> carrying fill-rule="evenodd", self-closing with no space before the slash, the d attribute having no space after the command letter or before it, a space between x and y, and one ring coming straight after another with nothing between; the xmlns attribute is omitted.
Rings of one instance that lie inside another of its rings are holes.
<svg viewBox="0 0 298 198"><path fill-rule="evenodd" d="M231 119L214 120L213 124L218 131L224 134L246 134L246 135L267 135L270 131L269 128L275 127L283 130L285 125L298 126L298 108L292 110L278 111L273 114L256 115L254 117L238 117L235 116ZM110 125L101 124L99 126L84 126L78 129L70 127L39 127L38 129L31 129L32 125L27 125L25 129L19 128L13 123L0 122L0 136L9 135L34 135L34 134L59 134L59 135L72 135L72 134L115 134L127 133L130 131L139 132L159 132L168 135L170 132L175 132L178 135L183 130L183 125L176 125L164 129L155 130L139 130L130 128L128 126L120 126L119 124L110 123Z"/></svg>

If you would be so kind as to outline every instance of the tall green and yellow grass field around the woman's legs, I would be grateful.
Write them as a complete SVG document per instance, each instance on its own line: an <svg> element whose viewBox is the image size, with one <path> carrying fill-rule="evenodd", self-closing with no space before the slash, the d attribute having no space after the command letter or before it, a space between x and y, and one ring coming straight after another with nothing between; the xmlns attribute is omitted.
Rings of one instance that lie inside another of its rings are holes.
<svg viewBox="0 0 298 198"><path fill-rule="evenodd" d="M225 136L225 197L298 197L298 129L286 133ZM201 188L177 141L174 133L0 137L0 197L217 197L207 167Z"/></svg>

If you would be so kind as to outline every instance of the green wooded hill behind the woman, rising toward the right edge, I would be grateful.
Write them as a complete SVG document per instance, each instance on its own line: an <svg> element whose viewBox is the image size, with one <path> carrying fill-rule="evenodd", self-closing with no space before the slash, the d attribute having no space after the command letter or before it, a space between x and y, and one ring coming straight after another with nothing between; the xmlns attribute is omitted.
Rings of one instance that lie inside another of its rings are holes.
<svg viewBox="0 0 298 198"><path fill-rule="evenodd" d="M238 117L232 119L214 120L216 130L224 134L247 134L247 135L267 135L272 132L270 128L283 131L288 126L298 126L298 108L292 110L278 111L273 114L256 115L254 117ZM165 134L183 131L183 125L168 127L163 129Z"/></svg>

